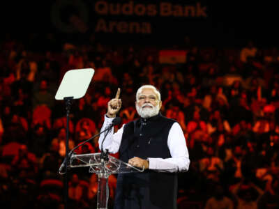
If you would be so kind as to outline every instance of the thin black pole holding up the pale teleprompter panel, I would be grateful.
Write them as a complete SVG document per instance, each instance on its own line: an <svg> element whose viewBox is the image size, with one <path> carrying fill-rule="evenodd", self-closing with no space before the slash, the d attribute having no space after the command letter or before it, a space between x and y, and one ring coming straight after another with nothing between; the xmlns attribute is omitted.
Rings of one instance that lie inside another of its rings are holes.
<svg viewBox="0 0 279 209"><path fill-rule="evenodd" d="M65 209L68 208L68 153L69 153L69 115L70 115L70 105L72 104L73 97L67 97L64 98L66 102L66 118L67 118L67 123L66 123L66 173L64 176L64 206Z"/></svg>

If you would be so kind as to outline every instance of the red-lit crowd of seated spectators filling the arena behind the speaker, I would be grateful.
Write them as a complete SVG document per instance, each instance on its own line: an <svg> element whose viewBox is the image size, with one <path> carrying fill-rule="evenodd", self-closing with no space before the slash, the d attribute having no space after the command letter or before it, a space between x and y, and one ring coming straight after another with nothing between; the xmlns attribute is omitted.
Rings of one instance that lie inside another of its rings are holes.
<svg viewBox="0 0 279 209"><path fill-rule="evenodd" d="M0 42L1 208L63 208L58 169L66 153L66 107L54 95L63 74L80 68L96 72L70 109L70 148L100 131L117 87L127 123L138 117L135 91L153 84L163 115L180 123L190 153L189 171L179 173L179 208L279 208L276 47L181 43L171 49L186 50L186 63L164 64L158 46L111 46L94 38L61 43L53 34L43 42L41 48L36 36ZM77 150L97 152L98 139ZM94 208L96 174L73 169L69 175L70 208ZM116 176L109 185L111 208Z"/></svg>

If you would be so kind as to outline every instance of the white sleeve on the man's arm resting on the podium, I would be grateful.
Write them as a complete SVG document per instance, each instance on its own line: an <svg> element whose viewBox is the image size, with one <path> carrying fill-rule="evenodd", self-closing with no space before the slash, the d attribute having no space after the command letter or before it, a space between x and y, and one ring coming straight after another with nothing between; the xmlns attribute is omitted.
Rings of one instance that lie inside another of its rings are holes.
<svg viewBox="0 0 279 209"><path fill-rule="evenodd" d="M167 172L187 171L189 169L189 153L186 140L179 123L174 123L167 138L170 158L149 158L149 169Z"/></svg>

